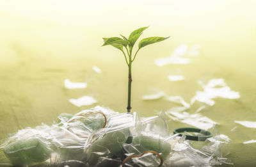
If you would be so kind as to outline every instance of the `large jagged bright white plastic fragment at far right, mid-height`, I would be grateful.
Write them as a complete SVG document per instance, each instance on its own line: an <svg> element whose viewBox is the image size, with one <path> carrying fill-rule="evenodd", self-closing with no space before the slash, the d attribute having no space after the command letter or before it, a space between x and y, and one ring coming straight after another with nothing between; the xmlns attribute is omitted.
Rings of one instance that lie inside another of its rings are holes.
<svg viewBox="0 0 256 167"><path fill-rule="evenodd" d="M198 83L204 91L196 91L196 95L191 99L191 104L197 100L213 106L215 102L212 99L214 98L239 99L240 97L239 92L230 90L224 79L211 79L207 84L202 83L202 81L198 81Z"/></svg>

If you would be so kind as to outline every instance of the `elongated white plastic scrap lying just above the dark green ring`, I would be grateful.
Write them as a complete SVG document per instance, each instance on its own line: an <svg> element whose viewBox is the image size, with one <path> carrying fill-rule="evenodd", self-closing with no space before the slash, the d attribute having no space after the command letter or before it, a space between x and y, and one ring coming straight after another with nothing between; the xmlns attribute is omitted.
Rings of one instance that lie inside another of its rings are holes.
<svg viewBox="0 0 256 167"><path fill-rule="evenodd" d="M173 120L187 123L188 125L204 129L205 131L214 127L215 124L218 124L217 122L214 122L207 116L203 116L200 113L190 115L187 112L180 113L179 111L170 111L166 112L166 114Z"/></svg>

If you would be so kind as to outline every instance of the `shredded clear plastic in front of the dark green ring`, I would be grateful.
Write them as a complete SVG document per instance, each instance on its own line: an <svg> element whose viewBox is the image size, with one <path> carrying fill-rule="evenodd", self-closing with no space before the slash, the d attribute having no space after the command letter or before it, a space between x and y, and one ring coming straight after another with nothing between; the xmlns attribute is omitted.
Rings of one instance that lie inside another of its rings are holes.
<svg viewBox="0 0 256 167"><path fill-rule="evenodd" d="M229 153L228 145L230 139L225 135L219 135L215 127L208 130L213 136L205 141L186 140L185 134L182 136L173 135L168 142L172 147L172 152L164 162L165 166L216 166L220 164L232 164L223 154ZM225 152L223 153L223 150ZM222 151L222 152L221 152Z"/></svg>

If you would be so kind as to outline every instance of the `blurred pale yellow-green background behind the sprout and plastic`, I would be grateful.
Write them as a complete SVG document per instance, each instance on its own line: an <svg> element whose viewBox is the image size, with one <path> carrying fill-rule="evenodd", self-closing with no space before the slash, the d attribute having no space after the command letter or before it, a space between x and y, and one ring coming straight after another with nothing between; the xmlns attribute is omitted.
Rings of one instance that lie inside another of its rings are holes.
<svg viewBox="0 0 256 167"><path fill-rule="evenodd" d="M202 90L198 81L222 78L240 98L216 98L200 113L232 139L227 157L234 166L255 166L256 143L243 142L256 139L256 129L235 123L256 120L255 6L256 1L0 1L0 138L96 105L125 112L127 65L122 52L101 47L102 37L129 36L150 26L141 38L170 38L141 49L132 64L132 111L153 116L179 106L143 100L152 90L190 102ZM200 46L199 54L187 55L191 62L186 65L154 63L180 45ZM170 75L185 79L169 81ZM69 90L65 79L88 86ZM68 102L84 95L97 103L77 107ZM181 125L170 121L170 131Z"/></svg>

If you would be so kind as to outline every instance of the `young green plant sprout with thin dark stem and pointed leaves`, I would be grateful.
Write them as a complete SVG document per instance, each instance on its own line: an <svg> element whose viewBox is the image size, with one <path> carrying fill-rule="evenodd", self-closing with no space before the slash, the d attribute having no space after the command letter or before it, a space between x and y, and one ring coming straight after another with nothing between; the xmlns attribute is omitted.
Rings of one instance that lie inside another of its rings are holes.
<svg viewBox="0 0 256 167"><path fill-rule="evenodd" d="M161 42L161 41L166 40L167 38L170 37L170 36L168 36L168 37L164 38L164 37L159 37L159 36L152 36L152 37L149 37L149 38L144 38L139 42L138 50L135 52L134 56L132 56L132 49L134 47L134 44L136 43L138 38L141 36L143 31L147 28L148 27L139 28L139 29L134 30L131 33L131 35L129 36L129 38L126 38L123 35L121 35L123 39L119 38L119 37L103 38L104 44L102 46L112 45L113 47L116 47L117 49L122 51L122 53L124 54L126 64L128 66L128 69L129 69L128 70L129 73L128 73L127 113L129 113L131 111L131 108L132 108L131 107L132 62L135 60L138 51L140 51L141 48L143 48L147 45L154 44L156 42ZM124 48L127 52L127 55L124 52Z"/></svg>

